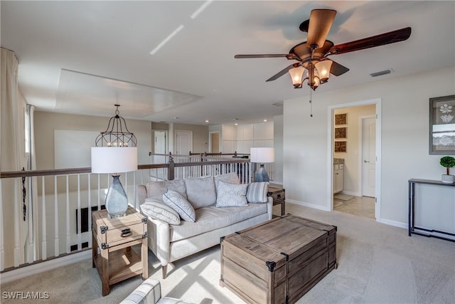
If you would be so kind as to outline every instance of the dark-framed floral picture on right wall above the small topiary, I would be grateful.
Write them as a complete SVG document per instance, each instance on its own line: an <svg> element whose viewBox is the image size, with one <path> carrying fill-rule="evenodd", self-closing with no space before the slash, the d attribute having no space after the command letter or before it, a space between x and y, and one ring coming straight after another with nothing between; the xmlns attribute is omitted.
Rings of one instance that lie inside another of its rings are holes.
<svg viewBox="0 0 455 304"><path fill-rule="evenodd" d="M455 95L429 99L429 154L455 155Z"/></svg>

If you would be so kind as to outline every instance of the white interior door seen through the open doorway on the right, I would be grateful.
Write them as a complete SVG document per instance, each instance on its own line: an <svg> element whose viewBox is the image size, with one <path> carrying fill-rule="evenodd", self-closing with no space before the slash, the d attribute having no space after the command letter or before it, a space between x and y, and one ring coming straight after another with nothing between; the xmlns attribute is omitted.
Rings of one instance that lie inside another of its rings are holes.
<svg viewBox="0 0 455 304"><path fill-rule="evenodd" d="M376 196L376 118L362 118L362 195Z"/></svg>

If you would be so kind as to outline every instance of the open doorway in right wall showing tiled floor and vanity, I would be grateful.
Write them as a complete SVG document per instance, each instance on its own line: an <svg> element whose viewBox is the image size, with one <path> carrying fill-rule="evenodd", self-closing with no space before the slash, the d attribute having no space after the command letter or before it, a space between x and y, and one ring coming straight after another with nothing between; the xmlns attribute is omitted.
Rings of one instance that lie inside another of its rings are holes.
<svg viewBox="0 0 455 304"><path fill-rule="evenodd" d="M330 108L330 206L380 221L380 99Z"/></svg>

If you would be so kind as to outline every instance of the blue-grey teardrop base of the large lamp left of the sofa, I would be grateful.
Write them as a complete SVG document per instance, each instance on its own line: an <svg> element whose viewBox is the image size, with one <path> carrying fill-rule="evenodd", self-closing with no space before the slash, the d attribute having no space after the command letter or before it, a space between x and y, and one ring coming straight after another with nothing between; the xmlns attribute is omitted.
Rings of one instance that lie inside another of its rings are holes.
<svg viewBox="0 0 455 304"><path fill-rule="evenodd" d="M112 175L114 180L106 194L106 210L109 219L127 215L128 196L120 182L119 175Z"/></svg>

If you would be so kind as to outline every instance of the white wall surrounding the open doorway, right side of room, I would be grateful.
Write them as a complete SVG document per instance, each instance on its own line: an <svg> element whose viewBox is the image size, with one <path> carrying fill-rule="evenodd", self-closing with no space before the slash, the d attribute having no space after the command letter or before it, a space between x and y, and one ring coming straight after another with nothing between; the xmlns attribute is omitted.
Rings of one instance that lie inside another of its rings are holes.
<svg viewBox="0 0 455 304"><path fill-rule="evenodd" d="M327 93L316 90L314 117L309 117L308 95L284 100L283 182L287 200L330 209L328 106L381 98L382 189L378 220L407 225L408 179L440 180L444 173L439 164L441 155L428 152L429 98L454 95L454 70L432 70ZM302 90L302 94L309 93L308 88Z"/></svg>

